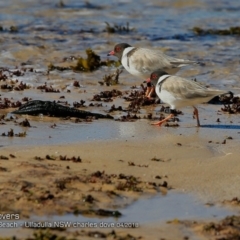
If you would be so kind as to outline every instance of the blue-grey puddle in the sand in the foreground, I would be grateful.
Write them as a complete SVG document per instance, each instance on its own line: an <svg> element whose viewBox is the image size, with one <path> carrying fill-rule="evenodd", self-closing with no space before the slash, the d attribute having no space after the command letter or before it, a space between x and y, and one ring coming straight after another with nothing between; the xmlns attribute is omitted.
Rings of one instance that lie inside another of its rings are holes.
<svg viewBox="0 0 240 240"><path fill-rule="evenodd" d="M102 217L100 219L84 217L82 215L52 216L36 219L50 221L80 221L80 222L134 222L139 224L154 224L174 219L200 220L220 219L230 214L236 214L235 209L220 206L207 206L197 201L193 196L185 193L170 192L167 195L159 195L140 199L130 206L118 209L122 216L119 218ZM34 218L35 219L35 218Z"/></svg>

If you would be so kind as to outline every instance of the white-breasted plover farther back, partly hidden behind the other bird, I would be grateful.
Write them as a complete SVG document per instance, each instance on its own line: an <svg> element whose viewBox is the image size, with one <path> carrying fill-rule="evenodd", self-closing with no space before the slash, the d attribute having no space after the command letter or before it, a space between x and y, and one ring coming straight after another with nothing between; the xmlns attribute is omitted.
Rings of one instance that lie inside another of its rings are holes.
<svg viewBox="0 0 240 240"><path fill-rule="evenodd" d="M129 73L144 79L158 69L168 74L175 74L181 67L199 64L199 62L167 56L160 50L136 48L127 43L117 44L114 50L108 53L108 56L111 55L118 57ZM146 96L150 97L153 91L154 86L148 83Z"/></svg>

